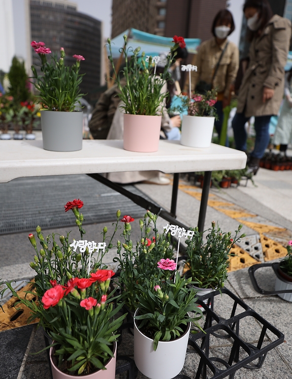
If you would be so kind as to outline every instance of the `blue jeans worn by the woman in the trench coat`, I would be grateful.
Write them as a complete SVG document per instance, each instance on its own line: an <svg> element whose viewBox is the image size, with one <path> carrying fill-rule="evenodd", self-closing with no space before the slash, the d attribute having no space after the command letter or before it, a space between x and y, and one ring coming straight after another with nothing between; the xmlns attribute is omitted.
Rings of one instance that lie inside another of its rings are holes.
<svg viewBox="0 0 292 379"><path fill-rule="evenodd" d="M255 117L255 148L251 155L254 158L261 158L268 147L270 141L269 123L272 115ZM247 150L247 132L245 123L250 119L244 113L235 114L232 120L232 129L234 132L235 149L246 152Z"/></svg>

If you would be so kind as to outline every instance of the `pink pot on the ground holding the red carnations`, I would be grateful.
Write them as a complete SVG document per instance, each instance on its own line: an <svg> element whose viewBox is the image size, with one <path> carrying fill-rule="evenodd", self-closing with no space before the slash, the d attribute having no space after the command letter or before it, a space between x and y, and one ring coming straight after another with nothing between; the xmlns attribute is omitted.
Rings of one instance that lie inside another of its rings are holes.
<svg viewBox="0 0 292 379"><path fill-rule="evenodd" d="M72 376L69 374L65 374L62 371L58 369L58 367L55 366L53 360L52 360L52 351L53 347L50 348L50 361L51 361L51 367L52 367L52 374L53 379L73 379L73 378L80 378L80 379L114 379L115 377L115 361L116 361L116 342L114 343L114 353L113 358L110 359L110 361L106 364L107 370L98 370L92 374L89 375L78 375Z"/></svg>

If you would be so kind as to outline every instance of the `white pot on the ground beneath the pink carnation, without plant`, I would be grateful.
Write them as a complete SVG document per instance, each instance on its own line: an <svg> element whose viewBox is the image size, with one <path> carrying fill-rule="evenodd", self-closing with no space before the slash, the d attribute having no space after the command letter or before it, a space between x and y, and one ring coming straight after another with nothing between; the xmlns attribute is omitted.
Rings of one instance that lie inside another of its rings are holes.
<svg viewBox="0 0 292 379"><path fill-rule="evenodd" d="M180 338L159 341L154 351L153 340L141 333L134 319L134 360L138 370L150 379L171 379L177 376L183 369L189 332L190 323Z"/></svg>

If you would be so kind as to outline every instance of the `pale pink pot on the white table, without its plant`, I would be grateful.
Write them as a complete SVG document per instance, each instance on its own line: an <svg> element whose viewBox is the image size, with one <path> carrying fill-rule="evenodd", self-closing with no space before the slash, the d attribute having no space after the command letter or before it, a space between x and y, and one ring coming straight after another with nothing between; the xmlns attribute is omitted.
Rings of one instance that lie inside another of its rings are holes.
<svg viewBox="0 0 292 379"><path fill-rule="evenodd" d="M124 149L130 152L157 152L161 116L124 114Z"/></svg>

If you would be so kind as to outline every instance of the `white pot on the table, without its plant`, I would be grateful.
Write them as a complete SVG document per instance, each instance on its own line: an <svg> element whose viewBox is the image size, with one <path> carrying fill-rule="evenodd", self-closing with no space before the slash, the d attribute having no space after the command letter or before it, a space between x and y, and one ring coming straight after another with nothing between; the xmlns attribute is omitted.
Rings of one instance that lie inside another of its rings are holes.
<svg viewBox="0 0 292 379"><path fill-rule="evenodd" d="M192 148L210 148L215 117L183 115L181 144Z"/></svg>

